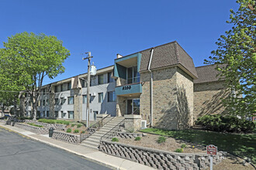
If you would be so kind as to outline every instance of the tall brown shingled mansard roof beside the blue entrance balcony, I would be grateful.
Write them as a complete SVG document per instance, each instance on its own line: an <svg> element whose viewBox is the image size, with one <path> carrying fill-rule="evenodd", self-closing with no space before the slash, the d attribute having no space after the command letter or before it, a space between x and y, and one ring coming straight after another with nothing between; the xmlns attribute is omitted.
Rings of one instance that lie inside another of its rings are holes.
<svg viewBox="0 0 256 170"><path fill-rule="evenodd" d="M169 42L161 46L155 46L151 61L150 69L154 70L165 66L182 66L182 69L188 71L197 78L197 73L192 58L182 49L178 42ZM140 71L146 71L150 60L150 50L145 49L140 51L142 54L140 62Z"/></svg>

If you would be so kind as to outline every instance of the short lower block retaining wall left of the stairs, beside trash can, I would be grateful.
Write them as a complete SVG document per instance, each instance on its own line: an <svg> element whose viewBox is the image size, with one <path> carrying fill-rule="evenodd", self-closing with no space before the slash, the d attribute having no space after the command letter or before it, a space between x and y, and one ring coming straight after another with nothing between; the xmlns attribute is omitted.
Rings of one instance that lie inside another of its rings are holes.
<svg viewBox="0 0 256 170"><path fill-rule="evenodd" d="M78 144L80 142L80 135L68 134L63 131L54 131L52 138L57 139L58 141L64 141L71 144Z"/></svg>

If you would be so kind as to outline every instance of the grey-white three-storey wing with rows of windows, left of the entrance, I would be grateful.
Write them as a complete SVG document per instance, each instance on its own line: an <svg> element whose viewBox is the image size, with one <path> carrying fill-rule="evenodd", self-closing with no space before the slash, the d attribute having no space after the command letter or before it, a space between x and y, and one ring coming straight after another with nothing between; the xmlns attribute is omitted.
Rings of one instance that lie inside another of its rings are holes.
<svg viewBox="0 0 256 170"><path fill-rule="evenodd" d="M89 119L97 114L116 116L116 82L112 78L113 66L97 70L91 76ZM28 96L21 97L26 116L31 115ZM56 117L74 121L86 120L87 73L50 83L42 87L36 117Z"/></svg>

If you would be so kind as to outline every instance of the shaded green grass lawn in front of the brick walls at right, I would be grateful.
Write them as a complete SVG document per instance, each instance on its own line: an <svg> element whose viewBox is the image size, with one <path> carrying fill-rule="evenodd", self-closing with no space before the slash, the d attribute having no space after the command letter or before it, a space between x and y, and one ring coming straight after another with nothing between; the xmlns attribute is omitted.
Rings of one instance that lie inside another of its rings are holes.
<svg viewBox="0 0 256 170"><path fill-rule="evenodd" d="M147 128L141 132L160 134L200 145L216 145L218 150L251 158L251 162L256 163L256 134L226 134L200 130L166 131L157 128Z"/></svg>

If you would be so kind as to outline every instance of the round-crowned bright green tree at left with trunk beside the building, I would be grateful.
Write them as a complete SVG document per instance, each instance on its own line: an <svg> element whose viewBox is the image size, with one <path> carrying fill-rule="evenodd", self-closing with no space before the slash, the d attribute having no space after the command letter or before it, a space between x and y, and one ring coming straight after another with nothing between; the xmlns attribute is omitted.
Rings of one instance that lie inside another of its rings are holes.
<svg viewBox="0 0 256 170"><path fill-rule="evenodd" d="M40 97L43 78L53 79L64 73L64 59L70 56L69 50L62 46L56 36L36 35L33 32L22 32L11 36L4 42L1 61L2 70L9 69L11 74L19 77L16 83L29 93L33 107L33 118L36 119L37 101ZM12 79L13 80L13 79Z"/></svg>

